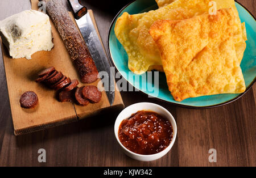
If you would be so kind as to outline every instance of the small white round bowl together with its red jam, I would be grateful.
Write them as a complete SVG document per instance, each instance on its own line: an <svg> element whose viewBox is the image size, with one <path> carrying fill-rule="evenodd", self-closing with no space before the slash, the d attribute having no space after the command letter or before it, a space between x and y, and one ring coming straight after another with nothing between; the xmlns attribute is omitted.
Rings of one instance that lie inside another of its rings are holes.
<svg viewBox="0 0 256 178"><path fill-rule="evenodd" d="M177 126L167 109L154 103L137 103L118 115L114 132L126 155L151 161L170 151L176 139Z"/></svg>

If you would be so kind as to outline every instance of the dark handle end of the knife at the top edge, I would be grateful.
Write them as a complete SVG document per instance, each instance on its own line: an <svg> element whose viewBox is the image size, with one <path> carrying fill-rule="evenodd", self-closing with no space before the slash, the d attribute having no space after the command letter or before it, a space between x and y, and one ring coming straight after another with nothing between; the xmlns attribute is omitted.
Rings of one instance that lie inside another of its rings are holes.
<svg viewBox="0 0 256 178"><path fill-rule="evenodd" d="M87 13L87 8L81 5L80 0L68 0L68 4L77 20Z"/></svg>

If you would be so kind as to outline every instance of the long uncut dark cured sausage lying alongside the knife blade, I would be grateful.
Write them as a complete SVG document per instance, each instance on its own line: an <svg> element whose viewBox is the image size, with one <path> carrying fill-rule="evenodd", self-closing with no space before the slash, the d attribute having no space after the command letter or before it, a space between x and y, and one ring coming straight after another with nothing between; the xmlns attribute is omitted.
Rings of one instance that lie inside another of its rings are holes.
<svg viewBox="0 0 256 178"><path fill-rule="evenodd" d="M51 16L55 27L68 50L69 56L79 72L82 83L92 83L97 80L98 70L90 55L84 39L80 36L75 23L65 10L61 0L40 0L46 2L46 10Z"/></svg>

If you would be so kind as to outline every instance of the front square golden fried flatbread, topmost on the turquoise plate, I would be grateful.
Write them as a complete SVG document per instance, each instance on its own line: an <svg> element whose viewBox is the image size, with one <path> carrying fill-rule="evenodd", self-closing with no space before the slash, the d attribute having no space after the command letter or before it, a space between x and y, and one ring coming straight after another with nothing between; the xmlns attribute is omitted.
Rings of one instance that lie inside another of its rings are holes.
<svg viewBox="0 0 256 178"><path fill-rule="evenodd" d="M185 20L159 20L150 28L167 84L176 101L245 91L235 40L236 16L222 9Z"/></svg>

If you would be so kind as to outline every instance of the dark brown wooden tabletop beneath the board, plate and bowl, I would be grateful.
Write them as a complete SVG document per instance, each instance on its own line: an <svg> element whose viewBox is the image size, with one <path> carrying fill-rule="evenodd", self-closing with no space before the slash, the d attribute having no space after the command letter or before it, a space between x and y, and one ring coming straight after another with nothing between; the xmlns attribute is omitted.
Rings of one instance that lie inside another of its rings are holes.
<svg viewBox="0 0 256 178"><path fill-rule="evenodd" d="M130 1L82 2L94 11L106 47L112 19ZM255 16L254 0L238 2ZM0 20L29 8L28 0L0 1ZM203 110L175 107L149 99L141 92L122 92L126 107L141 101L160 104L177 122L172 150L159 160L138 162L123 154L115 141L114 121L118 113L15 137L2 59L0 62L0 166L256 166L256 84L231 104ZM39 149L46 149L46 163L38 162ZM217 163L209 163L209 149L217 150Z"/></svg>

